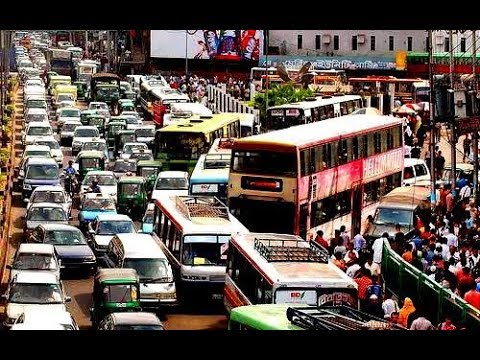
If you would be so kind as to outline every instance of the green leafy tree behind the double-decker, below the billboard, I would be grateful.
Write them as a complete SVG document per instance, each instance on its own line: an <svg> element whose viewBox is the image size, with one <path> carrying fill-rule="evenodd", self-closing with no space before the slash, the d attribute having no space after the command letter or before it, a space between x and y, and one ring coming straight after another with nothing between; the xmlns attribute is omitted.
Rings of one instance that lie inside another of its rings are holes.
<svg viewBox="0 0 480 360"><path fill-rule="evenodd" d="M297 88L291 82L274 85L268 89L268 106L277 106L293 102L303 101L308 97L314 96L310 89ZM254 106L260 109L260 123L265 122L266 118L266 90L255 95Z"/></svg>

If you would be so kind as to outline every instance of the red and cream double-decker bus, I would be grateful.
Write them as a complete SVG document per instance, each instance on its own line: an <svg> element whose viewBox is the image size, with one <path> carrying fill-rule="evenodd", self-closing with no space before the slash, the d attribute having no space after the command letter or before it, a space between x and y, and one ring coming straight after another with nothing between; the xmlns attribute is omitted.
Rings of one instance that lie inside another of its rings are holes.
<svg viewBox="0 0 480 360"><path fill-rule="evenodd" d="M237 139L231 212L250 231L354 234L381 196L402 185L402 119L348 115Z"/></svg>

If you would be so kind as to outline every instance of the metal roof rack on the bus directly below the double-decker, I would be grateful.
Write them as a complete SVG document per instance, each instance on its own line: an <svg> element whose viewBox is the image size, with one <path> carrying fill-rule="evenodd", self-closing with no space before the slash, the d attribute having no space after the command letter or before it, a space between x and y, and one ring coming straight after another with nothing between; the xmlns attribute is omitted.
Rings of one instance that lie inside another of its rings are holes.
<svg viewBox="0 0 480 360"><path fill-rule="evenodd" d="M303 239L255 238L253 248L268 262L302 261L328 263L328 251Z"/></svg>

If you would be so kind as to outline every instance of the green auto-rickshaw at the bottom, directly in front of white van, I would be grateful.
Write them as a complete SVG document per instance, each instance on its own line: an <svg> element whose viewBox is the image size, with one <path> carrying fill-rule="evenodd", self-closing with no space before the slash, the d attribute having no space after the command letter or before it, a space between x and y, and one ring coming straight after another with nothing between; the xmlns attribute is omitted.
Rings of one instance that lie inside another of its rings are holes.
<svg viewBox="0 0 480 360"><path fill-rule="evenodd" d="M98 270L93 280L90 320L94 328L108 314L140 311L140 280L135 269Z"/></svg>

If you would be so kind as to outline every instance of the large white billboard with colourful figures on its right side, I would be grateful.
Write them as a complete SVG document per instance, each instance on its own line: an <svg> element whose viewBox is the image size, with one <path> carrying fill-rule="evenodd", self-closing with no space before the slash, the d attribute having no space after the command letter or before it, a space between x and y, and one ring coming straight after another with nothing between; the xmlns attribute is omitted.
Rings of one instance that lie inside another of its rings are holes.
<svg viewBox="0 0 480 360"><path fill-rule="evenodd" d="M155 58L258 61L262 30L152 30L150 56Z"/></svg>

